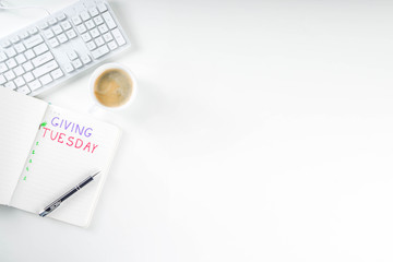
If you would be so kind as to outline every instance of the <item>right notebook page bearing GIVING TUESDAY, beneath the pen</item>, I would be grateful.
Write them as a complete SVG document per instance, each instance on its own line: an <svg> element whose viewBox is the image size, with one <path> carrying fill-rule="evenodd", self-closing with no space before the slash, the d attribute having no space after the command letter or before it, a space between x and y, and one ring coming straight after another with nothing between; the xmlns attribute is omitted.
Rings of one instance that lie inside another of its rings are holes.
<svg viewBox="0 0 393 262"><path fill-rule="evenodd" d="M38 214L96 170L94 181L47 217L87 226L118 144L117 127L49 106L11 205Z"/></svg>

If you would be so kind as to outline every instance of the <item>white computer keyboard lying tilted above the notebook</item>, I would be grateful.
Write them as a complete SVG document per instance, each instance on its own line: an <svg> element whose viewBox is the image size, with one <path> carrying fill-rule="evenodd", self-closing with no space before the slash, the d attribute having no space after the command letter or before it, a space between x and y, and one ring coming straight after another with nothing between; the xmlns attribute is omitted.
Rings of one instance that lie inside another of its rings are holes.
<svg viewBox="0 0 393 262"><path fill-rule="evenodd" d="M129 46L108 2L79 1L0 38L0 86L35 96Z"/></svg>

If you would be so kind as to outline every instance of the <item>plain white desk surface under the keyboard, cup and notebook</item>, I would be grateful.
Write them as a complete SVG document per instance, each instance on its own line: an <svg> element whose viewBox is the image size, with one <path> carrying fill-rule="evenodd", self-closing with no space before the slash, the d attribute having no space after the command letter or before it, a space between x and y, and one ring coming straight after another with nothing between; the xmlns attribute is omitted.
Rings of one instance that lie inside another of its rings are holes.
<svg viewBox="0 0 393 262"><path fill-rule="evenodd" d="M392 2L111 4L140 92L95 114L124 133L92 225L1 206L1 262L393 260ZM39 98L86 111L91 73Z"/></svg>

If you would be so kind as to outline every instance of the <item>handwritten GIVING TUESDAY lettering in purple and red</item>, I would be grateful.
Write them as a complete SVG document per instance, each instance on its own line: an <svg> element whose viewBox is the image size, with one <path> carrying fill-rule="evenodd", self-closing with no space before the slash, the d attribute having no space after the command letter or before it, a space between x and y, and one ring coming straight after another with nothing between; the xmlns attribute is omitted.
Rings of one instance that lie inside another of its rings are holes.
<svg viewBox="0 0 393 262"><path fill-rule="evenodd" d="M94 153L98 147L97 144L86 141L92 133L92 128L86 128L78 123L53 117L50 120L51 128L44 127L43 138L50 139L60 144L74 147L88 153ZM61 131L59 131L59 129ZM63 133L62 131L67 131Z"/></svg>

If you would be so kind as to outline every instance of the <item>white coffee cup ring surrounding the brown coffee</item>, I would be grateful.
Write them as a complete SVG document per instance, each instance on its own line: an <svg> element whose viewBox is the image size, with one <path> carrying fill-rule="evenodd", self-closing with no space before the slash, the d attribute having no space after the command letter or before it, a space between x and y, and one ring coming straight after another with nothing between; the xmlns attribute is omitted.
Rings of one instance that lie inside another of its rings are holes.
<svg viewBox="0 0 393 262"><path fill-rule="evenodd" d="M106 105L103 105L98 98L96 97L95 95L95 92L94 92L94 87L95 87L95 82L97 81L98 76L100 76L105 71L107 70L111 70L111 69L118 69L118 70L121 70L123 72L126 72L131 81L132 81L132 92L131 92L131 96L130 98L121 106L118 106L118 107L109 107L109 106L106 106ZM136 84L136 79L135 79L135 75L128 69L126 68L124 66L120 64L120 63L105 63L103 66L100 66L99 68L97 68L91 79L90 79L90 93L91 93L91 97L94 102L94 106L97 106L98 108L103 108L103 109L107 109L107 110L121 110L121 109L126 109L128 108L132 102L135 99L135 96L136 96L136 92L138 92L138 84ZM91 108L92 110L92 108Z"/></svg>

